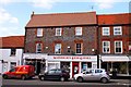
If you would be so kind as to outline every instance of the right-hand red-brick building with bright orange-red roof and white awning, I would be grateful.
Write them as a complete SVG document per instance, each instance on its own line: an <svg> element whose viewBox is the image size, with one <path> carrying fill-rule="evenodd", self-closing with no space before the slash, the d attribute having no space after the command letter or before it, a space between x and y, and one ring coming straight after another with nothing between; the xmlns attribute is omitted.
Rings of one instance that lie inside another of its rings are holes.
<svg viewBox="0 0 131 87"><path fill-rule="evenodd" d="M97 15L102 67L116 69L118 74L131 74L129 59L129 13Z"/></svg>

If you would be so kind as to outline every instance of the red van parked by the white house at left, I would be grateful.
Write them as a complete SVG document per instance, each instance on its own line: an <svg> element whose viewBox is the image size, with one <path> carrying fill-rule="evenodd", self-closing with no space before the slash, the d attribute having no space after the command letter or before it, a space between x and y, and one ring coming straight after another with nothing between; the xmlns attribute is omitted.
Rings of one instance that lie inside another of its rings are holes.
<svg viewBox="0 0 131 87"><path fill-rule="evenodd" d="M9 72L2 74L4 79L7 78L32 78L35 76L35 67L33 65L19 65L11 69Z"/></svg>

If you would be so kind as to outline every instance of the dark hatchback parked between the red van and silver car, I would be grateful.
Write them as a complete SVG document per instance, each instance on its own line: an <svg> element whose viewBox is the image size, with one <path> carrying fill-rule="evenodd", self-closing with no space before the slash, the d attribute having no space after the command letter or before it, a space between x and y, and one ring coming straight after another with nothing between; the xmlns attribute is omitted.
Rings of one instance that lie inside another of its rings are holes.
<svg viewBox="0 0 131 87"><path fill-rule="evenodd" d="M40 80L45 79L59 79L61 82L68 80L70 78L69 72L61 69L52 69L47 73L43 73L38 75Z"/></svg>

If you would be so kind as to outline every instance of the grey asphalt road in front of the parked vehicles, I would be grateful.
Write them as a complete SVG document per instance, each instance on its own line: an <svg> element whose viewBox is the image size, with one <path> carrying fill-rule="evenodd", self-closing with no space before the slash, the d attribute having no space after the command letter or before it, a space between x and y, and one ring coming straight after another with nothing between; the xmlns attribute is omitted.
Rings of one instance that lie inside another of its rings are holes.
<svg viewBox="0 0 131 87"><path fill-rule="evenodd" d="M130 79L111 79L107 84L103 84L100 82L84 82L84 83L78 83L78 82L58 82L58 80L39 80L37 77L33 79L2 79L2 87L129 87L131 80Z"/></svg>

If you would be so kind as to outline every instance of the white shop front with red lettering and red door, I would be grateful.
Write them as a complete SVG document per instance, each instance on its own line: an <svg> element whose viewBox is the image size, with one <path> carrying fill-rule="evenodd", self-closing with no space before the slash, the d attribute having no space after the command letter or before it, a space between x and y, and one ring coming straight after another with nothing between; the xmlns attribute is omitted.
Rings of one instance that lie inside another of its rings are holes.
<svg viewBox="0 0 131 87"><path fill-rule="evenodd" d="M70 78L74 74L86 71L87 69L97 67L96 55L48 55L47 70L63 69L70 73Z"/></svg>

